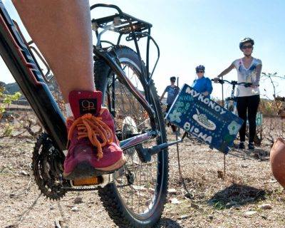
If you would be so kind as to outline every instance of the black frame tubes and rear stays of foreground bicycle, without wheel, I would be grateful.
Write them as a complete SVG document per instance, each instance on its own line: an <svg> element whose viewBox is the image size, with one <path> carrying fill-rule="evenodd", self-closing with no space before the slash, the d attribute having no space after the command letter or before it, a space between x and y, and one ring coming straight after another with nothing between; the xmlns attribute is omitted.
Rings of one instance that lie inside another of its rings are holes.
<svg viewBox="0 0 285 228"><path fill-rule="evenodd" d="M150 115L150 122L155 123L152 107L150 103L140 94L135 86L128 80L123 69L113 61L107 52L101 48L95 48L94 52L113 69L125 86L135 95ZM147 51L148 53L148 51ZM11 71L15 81L19 84L31 108L43 125L44 130L51 136L54 146L60 151L66 150L67 133L65 119L54 100L51 91L48 89L41 68L38 66L36 58L26 43L21 32L17 29L14 21L10 18L2 1L0 0L0 55L4 59L6 66ZM148 58L147 58L148 61ZM147 64L148 66L148 64ZM147 68L148 72L148 68ZM147 74L148 75L148 74ZM150 79L150 77L147 77ZM123 150L138 145L139 143L155 137L156 131L151 131L142 135L137 135L128 140L120 142Z"/></svg>

